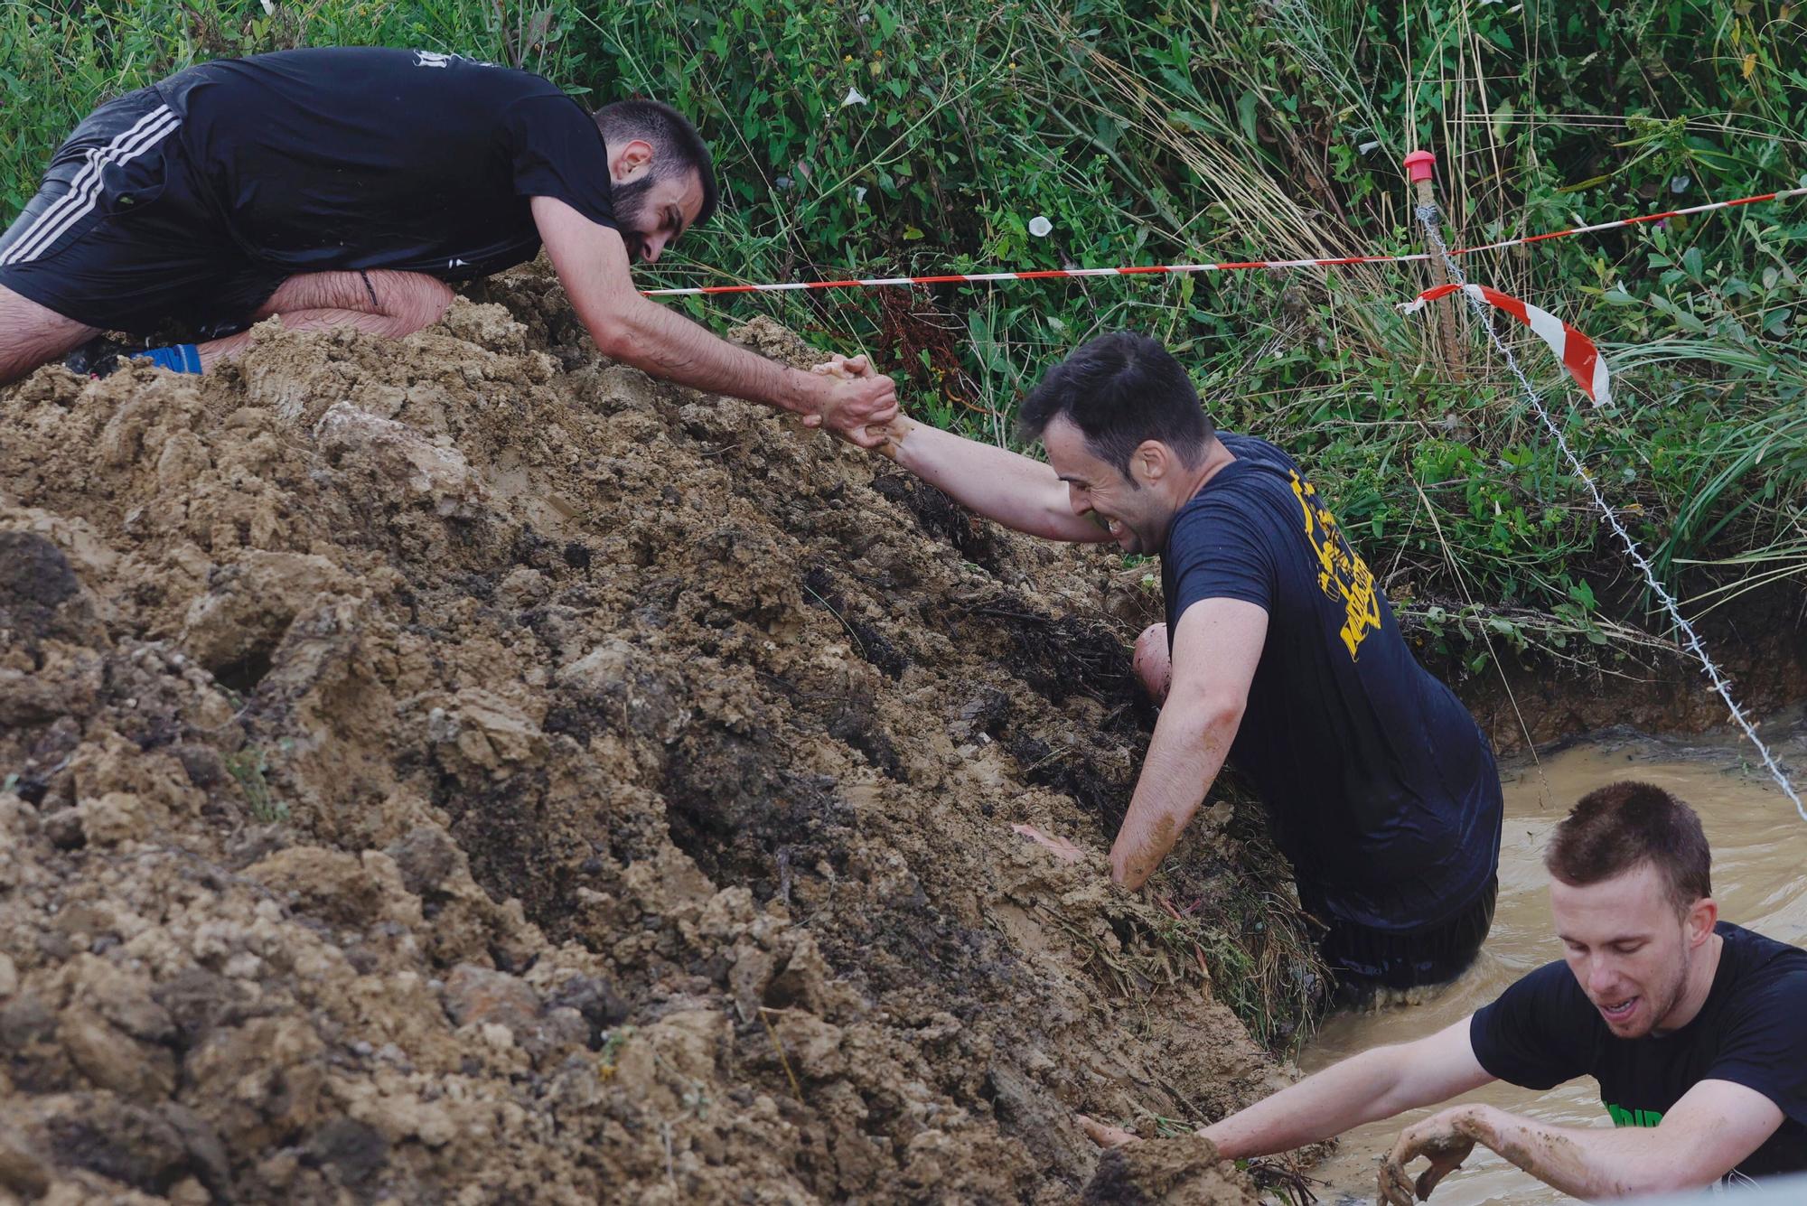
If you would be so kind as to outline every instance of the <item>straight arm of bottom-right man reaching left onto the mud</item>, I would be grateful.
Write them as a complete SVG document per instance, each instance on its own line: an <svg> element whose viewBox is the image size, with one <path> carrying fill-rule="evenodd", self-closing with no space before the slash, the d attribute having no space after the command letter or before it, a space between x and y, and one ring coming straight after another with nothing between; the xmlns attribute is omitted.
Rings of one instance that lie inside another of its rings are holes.
<svg viewBox="0 0 1807 1206"><path fill-rule="evenodd" d="M1446 1101L1491 1080L1475 1058L1464 1018L1417 1042L1350 1056L1198 1134L1211 1139L1223 1159L1270 1155L1321 1143L1402 1110ZM1091 1119L1081 1121L1100 1143L1129 1137L1128 1132Z"/></svg>

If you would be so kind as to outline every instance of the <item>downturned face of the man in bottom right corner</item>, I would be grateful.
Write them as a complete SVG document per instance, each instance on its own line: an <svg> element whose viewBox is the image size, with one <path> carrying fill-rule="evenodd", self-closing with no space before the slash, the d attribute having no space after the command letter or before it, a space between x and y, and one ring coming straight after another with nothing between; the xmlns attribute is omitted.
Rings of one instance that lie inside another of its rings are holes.
<svg viewBox="0 0 1807 1206"><path fill-rule="evenodd" d="M1639 863L1585 886L1552 879L1550 912L1568 969L1614 1036L1675 1029L1668 1018L1718 919L1711 897L1681 912L1662 872Z"/></svg>

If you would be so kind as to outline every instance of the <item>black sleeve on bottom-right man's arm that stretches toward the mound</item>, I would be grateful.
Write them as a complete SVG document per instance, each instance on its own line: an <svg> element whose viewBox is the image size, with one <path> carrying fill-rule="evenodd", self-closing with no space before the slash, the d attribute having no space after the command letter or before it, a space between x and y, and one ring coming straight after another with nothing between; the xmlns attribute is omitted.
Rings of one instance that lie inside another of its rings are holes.
<svg viewBox="0 0 1807 1206"><path fill-rule="evenodd" d="M1475 1013L1469 1044L1489 1076L1552 1089L1592 1071L1592 1009L1568 964L1545 964Z"/></svg>

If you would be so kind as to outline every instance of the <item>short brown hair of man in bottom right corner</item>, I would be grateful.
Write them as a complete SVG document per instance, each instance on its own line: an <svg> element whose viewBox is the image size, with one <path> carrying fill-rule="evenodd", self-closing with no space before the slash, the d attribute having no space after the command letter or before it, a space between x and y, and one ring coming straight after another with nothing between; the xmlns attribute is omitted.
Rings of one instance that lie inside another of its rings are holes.
<svg viewBox="0 0 1807 1206"><path fill-rule="evenodd" d="M1572 888L1650 863L1677 912L1713 895L1713 852L1700 818L1650 784L1619 782L1581 796L1556 827L1543 867Z"/></svg>

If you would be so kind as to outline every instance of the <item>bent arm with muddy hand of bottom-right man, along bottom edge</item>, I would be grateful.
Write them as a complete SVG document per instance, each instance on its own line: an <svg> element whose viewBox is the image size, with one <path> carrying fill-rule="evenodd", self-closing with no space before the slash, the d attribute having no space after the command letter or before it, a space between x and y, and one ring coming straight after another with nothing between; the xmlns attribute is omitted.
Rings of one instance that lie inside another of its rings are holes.
<svg viewBox="0 0 1807 1206"><path fill-rule="evenodd" d="M1538 1181L1581 1199L1664 1193L1713 1184L1782 1125L1774 1101L1729 1080L1702 1080L1657 1127L1552 1127L1491 1105L1458 1105L1399 1136L1381 1168L1381 1193L1393 1206L1428 1199L1478 1143ZM1406 1164L1428 1155L1413 1184Z"/></svg>

